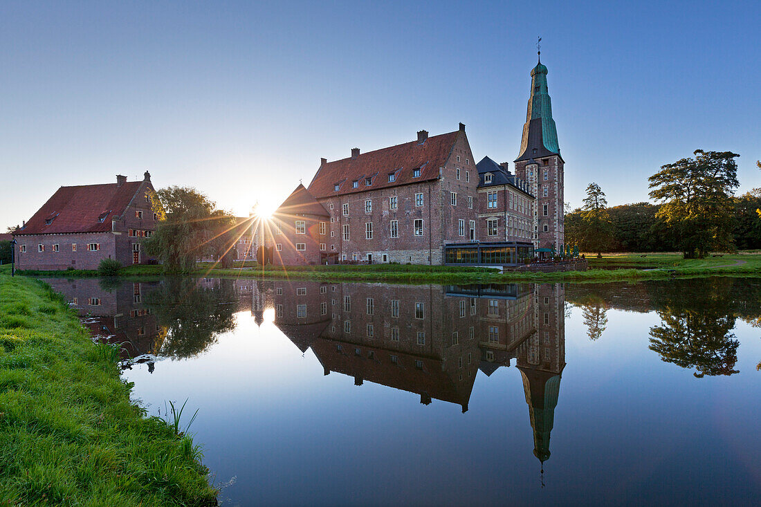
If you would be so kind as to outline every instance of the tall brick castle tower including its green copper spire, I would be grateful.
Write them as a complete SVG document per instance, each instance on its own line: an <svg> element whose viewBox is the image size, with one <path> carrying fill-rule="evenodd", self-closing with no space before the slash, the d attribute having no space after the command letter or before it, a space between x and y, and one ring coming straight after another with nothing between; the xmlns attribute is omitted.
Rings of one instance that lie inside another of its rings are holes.
<svg viewBox="0 0 761 507"><path fill-rule="evenodd" d="M537 53L539 54L539 53ZM526 181L537 197L533 209L533 245L559 250L565 243L563 227L563 166L558 132L552 120L552 104L547 93L547 68L541 59L531 69L521 151L515 159L515 175Z"/></svg>

